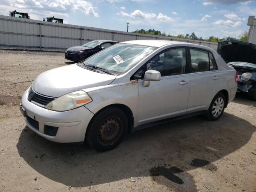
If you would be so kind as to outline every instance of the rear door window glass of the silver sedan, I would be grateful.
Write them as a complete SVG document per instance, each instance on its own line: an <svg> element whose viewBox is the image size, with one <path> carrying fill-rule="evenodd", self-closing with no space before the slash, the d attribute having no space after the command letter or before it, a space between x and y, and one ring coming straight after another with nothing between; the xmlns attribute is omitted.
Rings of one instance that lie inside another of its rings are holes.
<svg viewBox="0 0 256 192"><path fill-rule="evenodd" d="M192 72L217 70L212 54L205 50L190 49Z"/></svg>

